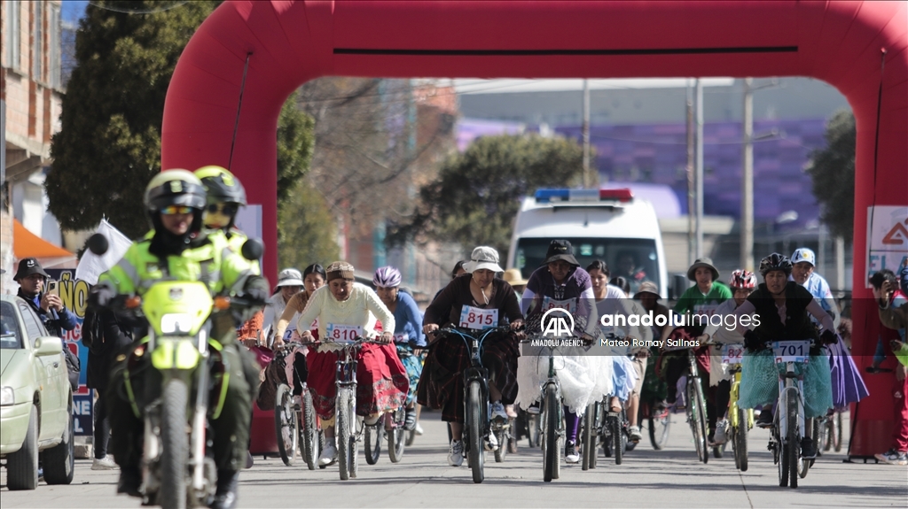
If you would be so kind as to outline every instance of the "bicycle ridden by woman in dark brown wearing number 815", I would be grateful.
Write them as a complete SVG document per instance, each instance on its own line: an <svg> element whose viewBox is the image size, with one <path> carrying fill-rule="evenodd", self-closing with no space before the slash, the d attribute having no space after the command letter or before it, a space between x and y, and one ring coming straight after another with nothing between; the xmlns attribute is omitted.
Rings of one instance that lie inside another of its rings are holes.
<svg viewBox="0 0 908 509"><path fill-rule="evenodd" d="M481 351L482 343L490 335L509 334L511 328L508 325L500 327L489 327L480 331L479 336L474 336L469 332L460 331L455 327L444 327L439 329L436 334L452 334L459 337L467 345L469 351L469 367L463 370L464 381L464 448L467 453L469 467L472 470L473 482L482 483L485 479L485 447L483 444L488 440L489 433L502 433L504 429L510 427L510 422L490 421L489 419L489 370L482 365ZM507 447L507 442L498 442L498 448ZM504 456L501 456L502 460Z"/></svg>

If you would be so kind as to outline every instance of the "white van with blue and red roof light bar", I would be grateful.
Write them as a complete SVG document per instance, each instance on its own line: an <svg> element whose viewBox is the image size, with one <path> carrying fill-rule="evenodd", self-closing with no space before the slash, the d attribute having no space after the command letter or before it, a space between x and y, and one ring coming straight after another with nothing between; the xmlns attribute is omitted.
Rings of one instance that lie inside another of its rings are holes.
<svg viewBox="0 0 908 509"><path fill-rule="evenodd" d="M630 189L539 189L525 197L514 223L508 268L516 267L528 278L554 239L570 241L583 268L604 260L612 277L628 280L631 296L645 281L656 283L663 298L668 295L656 210L635 199Z"/></svg>

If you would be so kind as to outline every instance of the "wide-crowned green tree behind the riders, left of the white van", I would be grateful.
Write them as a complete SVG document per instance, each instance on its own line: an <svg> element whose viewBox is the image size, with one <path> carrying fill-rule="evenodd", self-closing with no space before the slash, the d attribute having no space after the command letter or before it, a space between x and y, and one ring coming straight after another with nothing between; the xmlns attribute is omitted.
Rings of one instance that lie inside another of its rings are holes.
<svg viewBox="0 0 908 509"><path fill-rule="evenodd" d="M480 138L419 189L412 219L390 228L388 242L491 245L504 258L520 198L539 187L574 187L582 176L583 149L574 139Z"/></svg>

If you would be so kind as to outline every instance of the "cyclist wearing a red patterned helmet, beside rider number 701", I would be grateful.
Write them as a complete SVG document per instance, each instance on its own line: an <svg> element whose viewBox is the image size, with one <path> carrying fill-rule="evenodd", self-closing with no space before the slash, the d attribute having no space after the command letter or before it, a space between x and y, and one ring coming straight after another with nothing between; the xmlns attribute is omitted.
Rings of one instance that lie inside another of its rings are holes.
<svg viewBox="0 0 908 509"><path fill-rule="evenodd" d="M728 278L728 287L731 288L732 298L719 304L716 308L716 314L723 317L723 322L721 324L710 322L706 326L706 331L698 338L701 344L705 341L718 343L710 351L709 356L709 385L716 388L716 416L722 416L716 421L716 434L713 436L713 443L716 446L725 444L727 440L728 419L725 417L725 413L727 413L732 390L732 374L728 372L728 365L722 363L721 345L744 343L744 336L728 325L728 323L735 322L726 322L725 317L734 315L735 310L745 303L747 297L754 292L756 275L738 269Z"/></svg>

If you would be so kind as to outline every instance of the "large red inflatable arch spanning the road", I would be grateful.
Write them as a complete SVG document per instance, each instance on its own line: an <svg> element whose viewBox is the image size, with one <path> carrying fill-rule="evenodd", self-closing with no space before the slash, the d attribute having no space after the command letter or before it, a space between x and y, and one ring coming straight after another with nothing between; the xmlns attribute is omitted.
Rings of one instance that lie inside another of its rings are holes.
<svg viewBox="0 0 908 509"><path fill-rule="evenodd" d="M232 170L262 205L269 246L278 113L320 76L810 76L841 91L857 120L854 296L869 297L868 206L908 205L906 46L903 2L225 2L173 73L162 166L228 165L247 56ZM272 248L272 280L276 263ZM855 355L873 355L875 314L855 305ZM857 456L888 448L892 427L889 380L868 384Z"/></svg>

